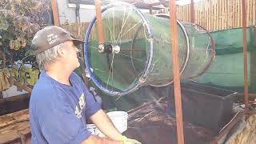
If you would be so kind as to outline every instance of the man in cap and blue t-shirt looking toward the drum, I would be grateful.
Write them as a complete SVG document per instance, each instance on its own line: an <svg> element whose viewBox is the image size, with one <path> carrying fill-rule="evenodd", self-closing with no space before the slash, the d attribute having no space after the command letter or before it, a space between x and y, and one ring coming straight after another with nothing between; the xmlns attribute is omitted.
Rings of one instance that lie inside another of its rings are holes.
<svg viewBox="0 0 256 144"><path fill-rule="evenodd" d="M30 97L31 142L34 143L140 143L122 136L93 96L74 74L82 41L58 26L46 26L35 34L40 78ZM106 135L86 130L86 118Z"/></svg>

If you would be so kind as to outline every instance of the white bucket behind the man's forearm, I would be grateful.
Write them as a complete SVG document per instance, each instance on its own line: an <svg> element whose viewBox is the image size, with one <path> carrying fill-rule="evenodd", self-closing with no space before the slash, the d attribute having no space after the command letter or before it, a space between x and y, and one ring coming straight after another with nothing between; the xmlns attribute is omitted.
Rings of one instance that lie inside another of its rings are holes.
<svg viewBox="0 0 256 144"><path fill-rule="evenodd" d="M128 114L125 111L111 111L106 114L120 133L127 130Z"/></svg>

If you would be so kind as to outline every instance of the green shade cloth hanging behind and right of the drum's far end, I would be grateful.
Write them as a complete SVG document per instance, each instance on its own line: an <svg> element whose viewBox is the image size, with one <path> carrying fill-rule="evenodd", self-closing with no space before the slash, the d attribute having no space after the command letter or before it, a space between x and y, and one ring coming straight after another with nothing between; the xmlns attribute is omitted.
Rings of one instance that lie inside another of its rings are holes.
<svg viewBox="0 0 256 144"><path fill-rule="evenodd" d="M254 62L252 58L255 58L256 31L255 28L247 28L246 32L248 84L250 90L255 91L256 74L255 70L251 69L254 64L250 62ZM210 68L201 77L194 78L194 80L208 85L226 87L230 90L243 90L242 29L220 30L212 32L211 35L215 42L216 57Z"/></svg>

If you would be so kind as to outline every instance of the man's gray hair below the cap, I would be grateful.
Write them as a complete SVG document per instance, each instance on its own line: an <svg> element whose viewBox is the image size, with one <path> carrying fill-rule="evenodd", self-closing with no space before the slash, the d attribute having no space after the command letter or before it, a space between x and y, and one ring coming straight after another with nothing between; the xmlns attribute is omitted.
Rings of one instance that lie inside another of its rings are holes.
<svg viewBox="0 0 256 144"><path fill-rule="evenodd" d="M64 43L61 43L43 51L42 53L37 54L36 59L38 62L39 70L46 70L47 66L54 63L54 61L58 58L58 49L62 48L63 46Z"/></svg>

